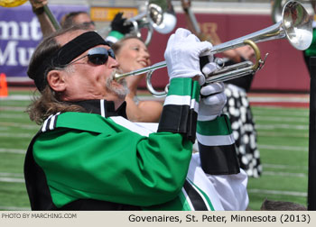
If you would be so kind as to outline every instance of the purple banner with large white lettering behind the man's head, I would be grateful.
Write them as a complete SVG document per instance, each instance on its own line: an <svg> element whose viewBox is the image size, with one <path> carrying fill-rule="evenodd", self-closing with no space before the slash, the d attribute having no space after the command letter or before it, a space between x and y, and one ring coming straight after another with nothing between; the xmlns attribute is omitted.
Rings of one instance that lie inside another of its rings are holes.
<svg viewBox="0 0 316 227"><path fill-rule="evenodd" d="M73 11L88 11L86 5L49 5L57 21ZM0 7L0 73L8 82L26 82L29 61L42 32L29 4L13 8Z"/></svg>

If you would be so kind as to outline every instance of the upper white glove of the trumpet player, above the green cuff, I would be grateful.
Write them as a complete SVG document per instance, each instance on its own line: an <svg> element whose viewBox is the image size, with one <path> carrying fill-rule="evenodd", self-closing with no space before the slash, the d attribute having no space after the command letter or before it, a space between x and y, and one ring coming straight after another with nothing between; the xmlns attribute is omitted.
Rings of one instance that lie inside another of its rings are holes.
<svg viewBox="0 0 316 227"><path fill-rule="evenodd" d="M167 63L169 80L175 77L199 77L200 85L204 84L205 77L200 71L200 55L211 50L212 44L200 41L190 31L179 28L172 34L164 51Z"/></svg>

